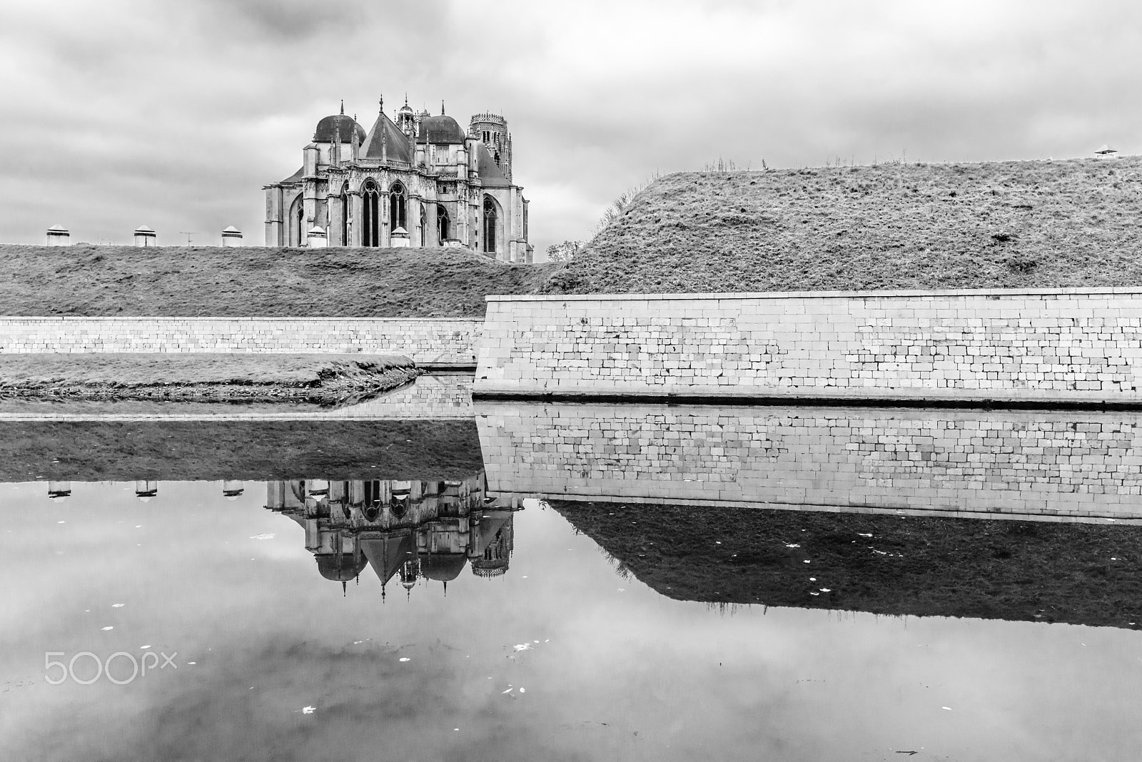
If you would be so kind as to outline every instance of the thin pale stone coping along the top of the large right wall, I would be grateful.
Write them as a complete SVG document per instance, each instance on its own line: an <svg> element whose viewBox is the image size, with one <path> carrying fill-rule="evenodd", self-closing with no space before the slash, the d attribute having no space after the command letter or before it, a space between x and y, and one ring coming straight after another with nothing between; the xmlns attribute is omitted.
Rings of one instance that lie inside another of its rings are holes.
<svg viewBox="0 0 1142 762"><path fill-rule="evenodd" d="M748 291L727 293L576 293L488 295L485 301L667 301L674 299L916 299L917 297L1142 295L1142 286L1064 289L947 289L904 291Z"/></svg>

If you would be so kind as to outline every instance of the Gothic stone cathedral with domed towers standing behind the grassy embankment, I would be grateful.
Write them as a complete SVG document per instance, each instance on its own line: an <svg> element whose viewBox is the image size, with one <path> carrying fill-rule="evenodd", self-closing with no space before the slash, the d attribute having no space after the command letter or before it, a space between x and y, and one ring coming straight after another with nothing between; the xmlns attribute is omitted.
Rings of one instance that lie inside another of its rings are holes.
<svg viewBox="0 0 1142 762"><path fill-rule="evenodd" d="M531 262L528 202L512 180L512 135L498 114L465 132L444 114L385 102L372 129L325 116L301 168L265 186L267 246L464 246Z"/></svg>

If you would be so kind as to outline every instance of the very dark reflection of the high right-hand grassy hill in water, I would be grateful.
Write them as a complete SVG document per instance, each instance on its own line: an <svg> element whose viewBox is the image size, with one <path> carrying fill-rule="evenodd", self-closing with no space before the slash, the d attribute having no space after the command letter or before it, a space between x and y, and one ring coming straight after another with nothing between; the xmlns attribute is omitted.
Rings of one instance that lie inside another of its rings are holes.
<svg viewBox="0 0 1142 762"><path fill-rule="evenodd" d="M1142 625L1139 527L550 504L622 569L678 600Z"/></svg>

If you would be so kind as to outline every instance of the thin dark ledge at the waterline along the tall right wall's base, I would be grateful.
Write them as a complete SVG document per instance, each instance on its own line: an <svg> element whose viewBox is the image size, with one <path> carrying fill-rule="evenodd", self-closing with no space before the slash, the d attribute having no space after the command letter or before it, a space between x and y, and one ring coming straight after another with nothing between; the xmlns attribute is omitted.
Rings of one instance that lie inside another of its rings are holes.
<svg viewBox="0 0 1142 762"><path fill-rule="evenodd" d="M767 407L909 407L963 410L1057 410L1057 411L1142 411L1142 397L1108 399L1081 396L947 396L854 394L813 395L765 391L550 391L545 389L480 389L472 390L475 400L515 400L533 403L657 403L676 405L756 405Z"/></svg>

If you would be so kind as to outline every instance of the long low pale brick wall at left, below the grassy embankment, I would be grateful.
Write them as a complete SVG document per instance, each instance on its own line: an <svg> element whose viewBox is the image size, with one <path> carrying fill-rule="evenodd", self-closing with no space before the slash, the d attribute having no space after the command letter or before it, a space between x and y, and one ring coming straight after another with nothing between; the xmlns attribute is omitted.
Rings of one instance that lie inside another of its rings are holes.
<svg viewBox="0 0 1142 762"><path fill-rule="evenodd" d="M378 352L475 360L480 319L0 317L0 352Z"/></svg>

